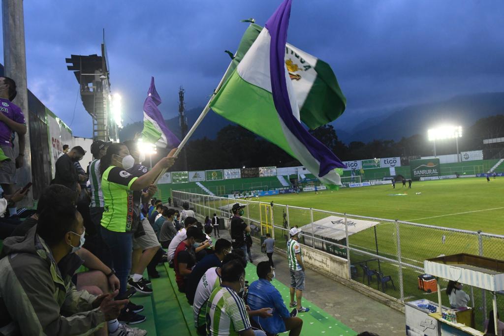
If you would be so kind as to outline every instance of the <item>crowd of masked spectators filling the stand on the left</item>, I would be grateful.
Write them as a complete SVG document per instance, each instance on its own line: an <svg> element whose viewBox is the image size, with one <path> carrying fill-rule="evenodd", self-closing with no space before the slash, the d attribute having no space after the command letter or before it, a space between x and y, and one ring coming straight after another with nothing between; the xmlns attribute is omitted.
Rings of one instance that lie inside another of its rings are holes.
<svg viewBox="0 0 504 336"><path fill-rule="evenodd" d="M226 240L220 238L217 214L202 224L188 203L179 212L171 208L171 198L167 207L153 197L153 181L173 165L174 150L149 169L136 141L96 140L90 147L94 160L84 169L86 151L65 145L36 210L17 209L30 185L14 188L26 133L15 96L14 81L0 78L0 334L145 335L132 327L146 320L133 295L153 293L143 275L147 270L150 279L159 278L156 265L162 262L173 268L178 291L193 307L198 334L301 333L297 315L309 309L301 306L300 230L291 229L287 244L289 311L271 284L271 237L264 244L269 261L255 270L259 280L246 281L247 260L253 259L250 228L241 218L244 206L232 207Z"/></svg>

